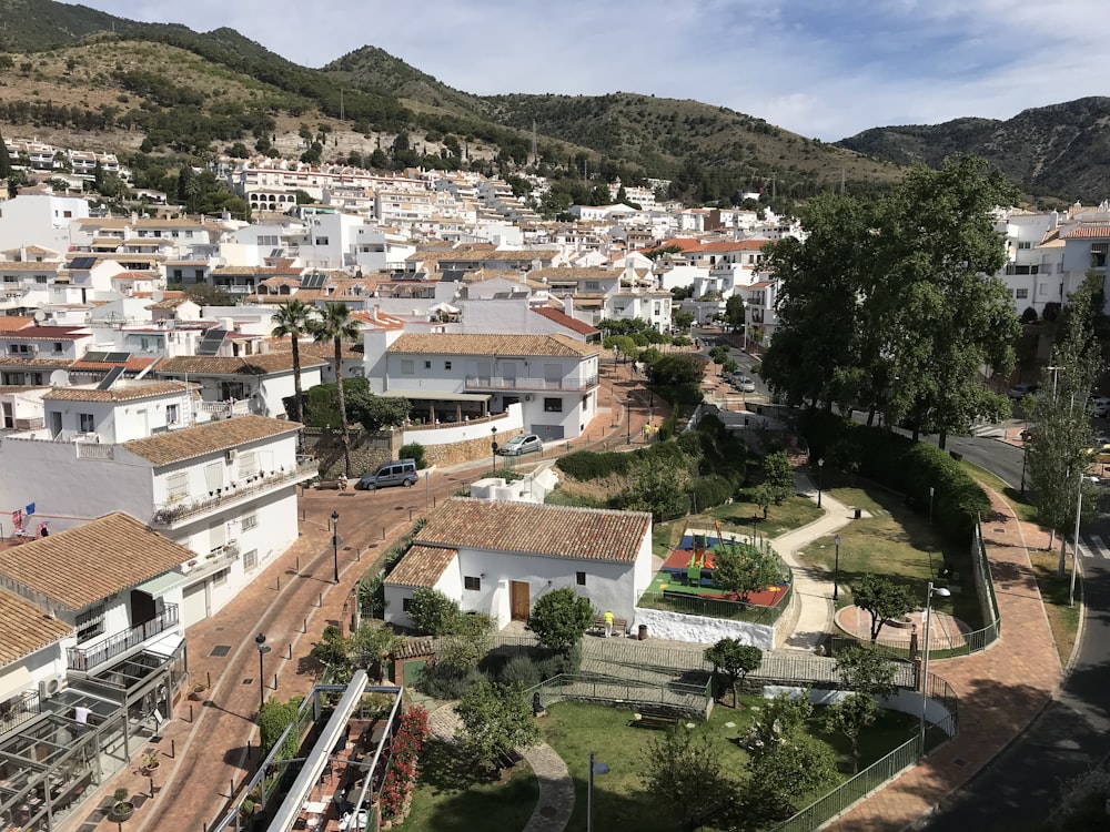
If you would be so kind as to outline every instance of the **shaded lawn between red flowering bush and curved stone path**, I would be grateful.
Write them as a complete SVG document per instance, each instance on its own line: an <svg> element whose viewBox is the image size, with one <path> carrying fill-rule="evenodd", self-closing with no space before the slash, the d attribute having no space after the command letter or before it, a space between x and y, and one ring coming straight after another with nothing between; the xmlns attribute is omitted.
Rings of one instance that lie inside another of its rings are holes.
<svg viewBox="0 0 1110 832"><path fill-rule="evenodd" d="M539 800L539 783L526 762L490 780L455 745L431 740L421 753L420 778L405 832L521 830Z"/></svg>

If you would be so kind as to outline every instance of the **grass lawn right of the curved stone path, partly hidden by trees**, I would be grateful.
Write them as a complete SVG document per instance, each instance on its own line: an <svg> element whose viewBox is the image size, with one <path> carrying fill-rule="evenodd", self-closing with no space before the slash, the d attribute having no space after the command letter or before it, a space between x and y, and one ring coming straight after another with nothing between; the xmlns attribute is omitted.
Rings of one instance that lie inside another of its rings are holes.
<svg viewBox="0 0 1110 832"><path fill-rule="evenodd" d="M763 700L741 696L740 702L744 706L740 710L718 704L707 722L695 721L690 729L713 738L720 750L723 768L737 781L745 777L748 755L736 740L744 735L756 714L753 707L758 708ZM824 720L824 710L816 709L810 730L841 755L841 772L847 779L851 774L849 745L839 734L826 734ZM662 730L636 727L628 710L578 702L553 704L543 727L546 741L563 758L575 781L574 814L567 830L586 828L586 777L589 752L594 751L595 759L609 767L608 773L594 778L594 828L614 832L673 832L676 822L666 795L649 793L644 782L644 758L652 739L660 738ZM911 717L885 711L860 742L861 768L910 739L916 727L917 721Z"/></svg>

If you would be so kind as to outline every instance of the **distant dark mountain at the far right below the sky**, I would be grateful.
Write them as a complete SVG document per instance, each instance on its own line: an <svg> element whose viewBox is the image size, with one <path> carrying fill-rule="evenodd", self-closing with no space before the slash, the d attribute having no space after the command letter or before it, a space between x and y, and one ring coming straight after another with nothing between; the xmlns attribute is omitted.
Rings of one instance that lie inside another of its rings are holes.
<svg viewBox="0 0 1110 832"><path fill-rule="evenodd" d="M896 164L976 153L1033 193L1087 203L1110 196L1110 98L1032 108L1006 121L872 128L838 144Z"/></svg>

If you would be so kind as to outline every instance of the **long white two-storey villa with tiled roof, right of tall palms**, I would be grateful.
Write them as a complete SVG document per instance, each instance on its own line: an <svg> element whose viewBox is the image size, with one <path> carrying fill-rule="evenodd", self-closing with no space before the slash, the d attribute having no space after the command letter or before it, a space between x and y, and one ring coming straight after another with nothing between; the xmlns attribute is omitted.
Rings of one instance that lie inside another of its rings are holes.
<svg viewBox="0 0 1110 832"><path fill-rule="evenodd" d="M518 405L522 426L548 442L581 435L597 413L597 345L566 335L364 337L371 389L408 398L416 418L463 422Z"/></svg>

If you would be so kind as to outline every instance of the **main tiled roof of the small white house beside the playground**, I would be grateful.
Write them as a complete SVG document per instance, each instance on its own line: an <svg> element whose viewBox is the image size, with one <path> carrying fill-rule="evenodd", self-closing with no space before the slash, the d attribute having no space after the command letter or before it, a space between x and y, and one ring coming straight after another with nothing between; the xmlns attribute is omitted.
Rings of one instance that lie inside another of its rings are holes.
<svg viewBox="0 0 1110 832"><path fill-rule="evenodd" d="M650 530L652 515L645 511L453 498L415 542L630 564Z"/></svg>

